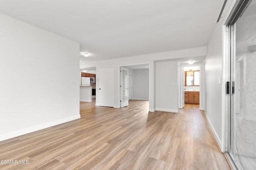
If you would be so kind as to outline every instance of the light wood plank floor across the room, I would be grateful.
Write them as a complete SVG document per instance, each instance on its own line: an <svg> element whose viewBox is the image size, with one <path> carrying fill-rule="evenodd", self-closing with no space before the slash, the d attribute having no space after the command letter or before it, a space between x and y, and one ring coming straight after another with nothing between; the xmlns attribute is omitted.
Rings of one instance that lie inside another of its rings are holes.
<svg viewBox="0 0 256 170"><path fill-rule="evenodd" d="M122 109L80 102L81 119L0 142L0 169L225 170L198 105L179 113L148 112L148 101Z"/></svg>

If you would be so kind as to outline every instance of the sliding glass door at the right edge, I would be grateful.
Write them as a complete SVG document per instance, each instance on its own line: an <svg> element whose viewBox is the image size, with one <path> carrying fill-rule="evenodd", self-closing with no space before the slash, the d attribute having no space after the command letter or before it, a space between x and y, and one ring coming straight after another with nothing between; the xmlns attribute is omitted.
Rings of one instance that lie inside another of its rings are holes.
<svg viewBox="0 0 256 170"><path fill-rule="evenodd" d="M238 169L256 170L256 0L244 0L230 23L229 154Z"/></svg>

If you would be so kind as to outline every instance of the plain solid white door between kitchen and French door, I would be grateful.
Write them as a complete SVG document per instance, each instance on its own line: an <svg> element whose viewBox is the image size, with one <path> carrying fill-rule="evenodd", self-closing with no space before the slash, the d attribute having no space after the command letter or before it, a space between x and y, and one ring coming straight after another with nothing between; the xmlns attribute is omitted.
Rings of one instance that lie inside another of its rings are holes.
<svg viewBox="0 0 256 170"><path fill-rule="evenodd" d="M100 68L99 105L114 107L114 67Z"/></svg>

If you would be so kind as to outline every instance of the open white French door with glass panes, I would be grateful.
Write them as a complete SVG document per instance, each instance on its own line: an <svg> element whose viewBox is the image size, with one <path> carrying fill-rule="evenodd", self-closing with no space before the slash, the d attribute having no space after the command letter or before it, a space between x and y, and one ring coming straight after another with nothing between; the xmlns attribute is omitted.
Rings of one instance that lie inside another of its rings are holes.
<svg viewBox="0 0 256 170"><path fill-rule="evenodd" d="M121 107L128 106L128 69L121 67Z"/></svg>

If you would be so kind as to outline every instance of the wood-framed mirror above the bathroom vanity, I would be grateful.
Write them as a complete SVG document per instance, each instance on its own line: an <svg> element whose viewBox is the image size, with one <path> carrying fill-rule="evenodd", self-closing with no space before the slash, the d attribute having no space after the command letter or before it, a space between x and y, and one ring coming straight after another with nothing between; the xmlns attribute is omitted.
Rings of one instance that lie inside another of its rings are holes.
<svg viewBox="0 0 256 170"><path fill-rule="evenodd" d="M199 71L185 71L185 86L199 86Z"/></svg>

